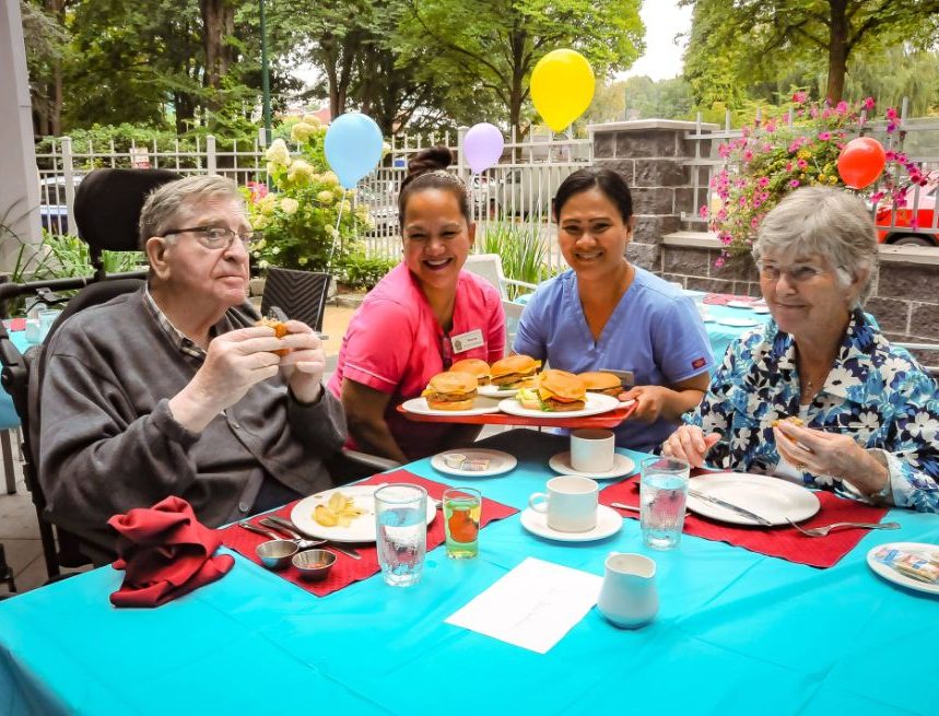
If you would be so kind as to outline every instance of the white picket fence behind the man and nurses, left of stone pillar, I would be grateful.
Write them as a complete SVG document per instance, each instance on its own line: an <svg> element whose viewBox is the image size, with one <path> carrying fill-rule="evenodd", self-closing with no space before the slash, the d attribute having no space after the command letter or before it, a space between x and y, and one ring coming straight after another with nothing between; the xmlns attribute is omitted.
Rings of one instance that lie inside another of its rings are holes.
<svg viewBox="0 0 939 716"><path fill-rule="evenodd" d="M398 223L398 190L407 175L408 160L427 146L443 144L454 151L457 163L450 168L467 183L470 206L478 223L478 236L497 223L520 231L537 231L548 244L552 268L561 266L550 222L551 198L571 173L592 164L592 142L565 136L531 136L517 141L515 134L505 143L502 161L481 175L473 175L463 162L461 151L466 129L457 137L406 137L391 142L390 161L359 186L359 202L368 206L375 228L362 236L371 257L397 258L401 243ZM456 139L454 143L453 140ZM220 151L215 138L197 138L195 151L183 151L132 144L118 151L106 146L79 145L68 137L52 142L51 151L37 155L40 181L43 225L56 233L75 233L74 190L82 177L97 167L144 166L166 168L179 174L221 174L239 185L267 180L265 148L258 141L231 151Z"/></svg>

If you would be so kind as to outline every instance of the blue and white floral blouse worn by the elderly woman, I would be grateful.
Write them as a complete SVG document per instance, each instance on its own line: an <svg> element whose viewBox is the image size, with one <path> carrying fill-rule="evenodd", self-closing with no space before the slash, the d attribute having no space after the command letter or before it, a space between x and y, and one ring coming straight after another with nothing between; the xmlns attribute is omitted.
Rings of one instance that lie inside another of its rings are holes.
<svg viewBox="0 0 939 716"><path fill-rule="evenodd" d="M824 387L807 406L808 427L850 433L887 465L882 493L899 507L939 513L939 400L936 384L906 350L891 345L855 310ZM708 453L718 468L779 473L772 423L799 415L793 337L775 321L730 344L697 411L685 422L721 439ZM784 462L784 466L787 463ZM801 472L802 483L867 501L831 476Z"/></svg>

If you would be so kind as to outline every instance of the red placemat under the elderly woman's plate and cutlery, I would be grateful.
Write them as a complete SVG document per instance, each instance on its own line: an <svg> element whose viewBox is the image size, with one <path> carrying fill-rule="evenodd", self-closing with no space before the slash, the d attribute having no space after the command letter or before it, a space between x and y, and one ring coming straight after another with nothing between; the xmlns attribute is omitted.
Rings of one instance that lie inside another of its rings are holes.
<svg viewBox="0 0 939 716"><path fill-rule="evenodd" d="M872 507L854 500L845 500L831 492L819 491L815 495L821 502L821 508L811 519L799 523L801 527L821 527L832 523L879 523L888 510L887 507ZM601 504L609 506L611 502L638 506L638 476L633 476L600 492ZM623 517L633 519L639 517L638 513L621 509L617 512ZM683 531L685 535L727 542L767 556L777 556L789 562L823 568L837 564L838 560L850 552L867 533L861 529L838 529L826 537L806 537L788 525L768 528L730 526L695 515L690 510L684 518Z"/></svg>

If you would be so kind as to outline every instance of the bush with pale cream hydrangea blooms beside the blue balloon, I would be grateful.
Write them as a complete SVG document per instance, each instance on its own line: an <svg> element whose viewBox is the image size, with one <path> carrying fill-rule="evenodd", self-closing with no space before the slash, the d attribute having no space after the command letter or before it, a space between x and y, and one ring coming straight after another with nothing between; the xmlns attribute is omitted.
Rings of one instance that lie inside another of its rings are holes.
<svg viewBox="0 0 939 716"><path fill-rule="evenodd" d="M305 117L291 128L298 156L282 139L267 151L268 176L274 191L256 186L248 191L251 225L263 232L253 249L262 269L325 271L342 267L362 253L357 236L369 227L365 207L352 209L353 192L339 185L324 155L326 128Z"/></svg>

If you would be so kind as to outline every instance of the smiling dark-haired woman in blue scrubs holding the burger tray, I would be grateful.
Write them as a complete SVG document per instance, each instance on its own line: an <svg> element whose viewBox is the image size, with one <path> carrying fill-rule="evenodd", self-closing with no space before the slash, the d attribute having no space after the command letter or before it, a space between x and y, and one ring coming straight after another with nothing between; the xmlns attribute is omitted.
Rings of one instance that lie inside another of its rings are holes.
<svg viewBox="0 0 939 716"><path fill-rule="evenodd" d="M652 450L697 407L714 364L694 302L626 260L633 203L623 178L589 167L554 198L557 242L571 266L542 283L525 308L513 350L572 373L632 371L638 402L617 444Z"/></svg>

